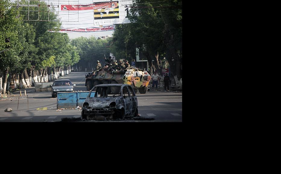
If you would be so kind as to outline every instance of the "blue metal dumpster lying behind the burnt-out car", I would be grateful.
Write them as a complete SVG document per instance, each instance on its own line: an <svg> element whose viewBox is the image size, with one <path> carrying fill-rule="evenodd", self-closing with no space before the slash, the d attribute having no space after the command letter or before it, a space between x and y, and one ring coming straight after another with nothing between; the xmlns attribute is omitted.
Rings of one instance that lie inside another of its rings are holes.
<svg viewBox="0 0 281 174"><path fill-rule="evenodd" d="M94 97L96 91L91 93L90 97ZM86 92L58 92L57 93L57 109L60 108L76 108L82 107L84 101L89 94Z"/></svg>

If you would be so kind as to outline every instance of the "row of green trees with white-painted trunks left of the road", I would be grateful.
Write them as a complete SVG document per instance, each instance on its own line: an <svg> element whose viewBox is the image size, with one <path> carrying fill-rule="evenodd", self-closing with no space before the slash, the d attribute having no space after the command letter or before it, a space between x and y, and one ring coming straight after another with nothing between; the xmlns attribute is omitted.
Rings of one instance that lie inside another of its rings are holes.
<svg viewBox="0 0 281 174"><path fill-rule="evenodd" d="M43 1L19 1L20 4L28 2L40 4L40 20L37 20L38 7L17 7L16 3L0 0L1 93L9 90L11 78L14 88L29 88L34 82L58 79L64 75L64 71L71 71L70 67L80 59L66 33L50 32L61 26L56 21L55 10L47 7ZM30 21L23 20L27 19L27 8ZM5 43L6 38L10 40L10 47ZM15 80L17 76L19 86Z"/></svg>

